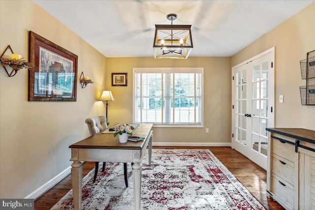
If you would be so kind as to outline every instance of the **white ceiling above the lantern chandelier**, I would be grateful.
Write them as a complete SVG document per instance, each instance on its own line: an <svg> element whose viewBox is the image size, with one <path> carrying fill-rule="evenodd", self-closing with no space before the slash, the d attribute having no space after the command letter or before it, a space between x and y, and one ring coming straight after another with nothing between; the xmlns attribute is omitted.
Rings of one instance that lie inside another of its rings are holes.
<svg viewBox="0 0 315 210"><path fill-rule="evenodd" d="M153 57L155 24L191 26L190 57L229 57L315 0L34 0L106 57Z"/></svg>

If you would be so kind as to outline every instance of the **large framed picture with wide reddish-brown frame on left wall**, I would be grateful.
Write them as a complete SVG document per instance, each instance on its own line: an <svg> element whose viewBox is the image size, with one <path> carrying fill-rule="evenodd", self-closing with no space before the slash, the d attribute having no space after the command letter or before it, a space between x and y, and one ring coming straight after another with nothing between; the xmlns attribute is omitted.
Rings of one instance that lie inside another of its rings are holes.
<svg viewBox="0 0 315 210"><path fill-rule="evenodd" d="M76 101L78 56L29 31L29 101Z"/></svg>

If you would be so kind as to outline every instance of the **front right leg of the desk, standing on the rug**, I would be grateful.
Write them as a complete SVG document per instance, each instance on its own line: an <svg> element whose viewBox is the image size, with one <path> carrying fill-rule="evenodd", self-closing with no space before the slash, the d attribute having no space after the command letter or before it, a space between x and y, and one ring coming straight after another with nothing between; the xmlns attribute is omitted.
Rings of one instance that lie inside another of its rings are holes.
<svg viewBox="0 0 315 210"><path fill-rule="evenodd" d="M134 209L135 210L140 210L140 204L141 204L141 171L142 171L141 163L134 163L132 165L133 196L134 196Z"/></svg>

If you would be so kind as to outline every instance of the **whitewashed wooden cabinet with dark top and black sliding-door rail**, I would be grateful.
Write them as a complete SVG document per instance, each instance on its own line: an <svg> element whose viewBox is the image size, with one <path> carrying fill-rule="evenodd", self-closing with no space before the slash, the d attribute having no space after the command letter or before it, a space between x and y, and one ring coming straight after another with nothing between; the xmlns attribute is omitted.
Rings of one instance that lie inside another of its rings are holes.
<svg viewBox="0 0 315 210"><path fill-rule="evenodd" d="M315 209L315 131L267 128L267 194L286 210Z"/></svg>

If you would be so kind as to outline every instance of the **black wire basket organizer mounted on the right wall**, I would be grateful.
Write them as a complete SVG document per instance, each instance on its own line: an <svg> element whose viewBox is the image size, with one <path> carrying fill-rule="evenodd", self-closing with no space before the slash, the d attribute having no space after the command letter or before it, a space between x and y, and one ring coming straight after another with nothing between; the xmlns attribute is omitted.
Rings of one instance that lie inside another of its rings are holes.
<svg viewBox="0 0 315 210"><path fill-rule="evenodd" d="M300 87L302 105L315 105L315 50L308 52L300 65L302 80L306 80L306 86Z"/></svg>

